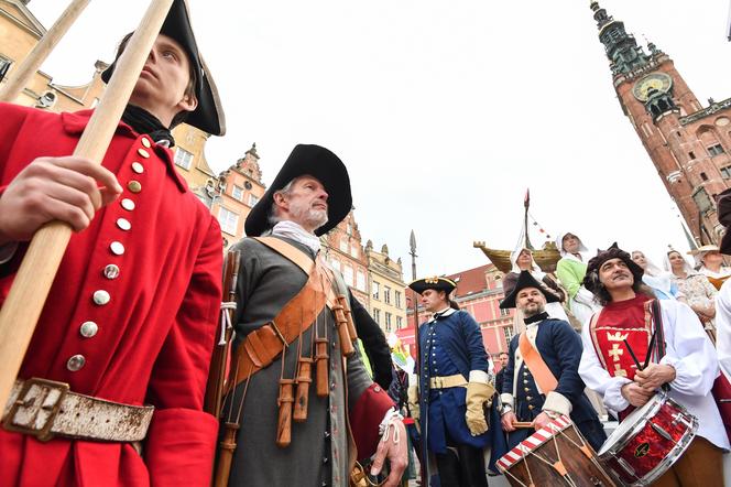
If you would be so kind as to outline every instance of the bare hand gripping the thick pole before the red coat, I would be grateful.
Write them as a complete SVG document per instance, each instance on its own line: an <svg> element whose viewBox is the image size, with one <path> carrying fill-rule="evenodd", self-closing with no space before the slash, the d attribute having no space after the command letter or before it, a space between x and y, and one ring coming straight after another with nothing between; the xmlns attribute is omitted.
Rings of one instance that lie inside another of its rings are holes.
<svg viewBox="0 0 731 487"><path fill-rule="evenodd" d="M114 174L88 159L39 158L0 195L0 244L30 240L52 220L80 231L121 193Z"/></svg>

